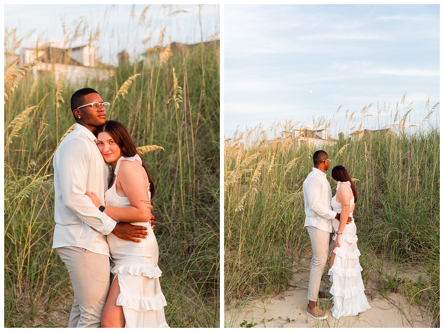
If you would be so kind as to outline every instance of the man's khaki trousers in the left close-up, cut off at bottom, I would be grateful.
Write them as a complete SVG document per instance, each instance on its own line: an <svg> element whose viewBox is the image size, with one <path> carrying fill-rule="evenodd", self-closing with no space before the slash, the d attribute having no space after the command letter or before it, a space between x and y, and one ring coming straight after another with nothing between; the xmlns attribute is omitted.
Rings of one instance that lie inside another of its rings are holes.
<svg viewBox="0 0 444 332"><path fill-rule="evenodd" d="M71 246L56 250L68 269L74 290L68 327L99 328L110 290L109 257Z"/></svg>

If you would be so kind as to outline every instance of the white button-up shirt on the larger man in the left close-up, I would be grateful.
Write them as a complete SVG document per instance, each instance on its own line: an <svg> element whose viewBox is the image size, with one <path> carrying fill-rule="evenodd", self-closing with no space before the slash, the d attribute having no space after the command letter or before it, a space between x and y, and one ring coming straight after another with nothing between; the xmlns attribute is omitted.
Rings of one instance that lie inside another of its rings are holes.
<svg viewBox="0 0 444 332"><path fill-rule="evenodd" d="M54 154L56 226L52 248L70 245L110 256L106 235L116 221L100 212L85 195L92 191L105 205L110 170L96 143L94 134L76 123Z"/></svg>

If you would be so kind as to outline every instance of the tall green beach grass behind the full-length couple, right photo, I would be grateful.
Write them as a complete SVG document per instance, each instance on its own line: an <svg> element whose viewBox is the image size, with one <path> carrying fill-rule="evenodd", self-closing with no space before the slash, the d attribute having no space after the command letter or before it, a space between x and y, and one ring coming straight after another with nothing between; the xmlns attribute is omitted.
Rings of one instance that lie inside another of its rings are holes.
<svg viewBox="0 0 444 332"><path fill-rule="evenodd" d="M428 118L437 110L439 105L427 110ZM362 134L356 139L347 134L364 129L366 114L355 121L347 114L337 123L341 129L352 130L333 145L298 145L297 138L285 133L278 138L281 131L300 128L291 122L236 131L226 139L224 287L228 305L282 292L293 271L309 269L299 265L301 257L311 256L303 226L302 182L312 170L314 151L322 149L333 159L331 168L343 165L355 179L358 202L353 214L365 283L372 280L382 295L402 292L410 305L425 306L430 326L439 327L440 131L428 119L422 126L409 128L407 112L398 113L393 117L393 112L391 123L385 126L392 134ZM331 130L332 123L324 119L314 125ZM334 195L329 173L327 179ZM386 269L387 263L414 273L401 276Z"/></svg>

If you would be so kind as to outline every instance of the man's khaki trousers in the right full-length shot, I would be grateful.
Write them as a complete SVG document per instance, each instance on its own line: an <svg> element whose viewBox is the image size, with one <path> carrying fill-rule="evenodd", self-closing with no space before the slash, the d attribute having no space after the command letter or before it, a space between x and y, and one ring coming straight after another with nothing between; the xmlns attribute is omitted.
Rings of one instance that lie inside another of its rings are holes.
<svg viewBox="0 0 444 332"><path fill-rule="evenodd" d="M313 249L307 298L310 301L317 302L319 287L321 286L321 277L329 256L329 245L333 233L317 229L313 226L306 226L306 228L310 235L311 247Z"/></svg>

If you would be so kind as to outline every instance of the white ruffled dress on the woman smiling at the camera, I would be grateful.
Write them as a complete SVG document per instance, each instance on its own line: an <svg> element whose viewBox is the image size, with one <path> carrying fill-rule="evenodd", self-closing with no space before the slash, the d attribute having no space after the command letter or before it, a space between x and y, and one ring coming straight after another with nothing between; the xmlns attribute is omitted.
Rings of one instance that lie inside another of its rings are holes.
<svg viewBox="0 0 444 332"><path fill-rule="evenodd" d="M121 157L117 161L115 175L122 160L142 164L139 155L131 158ZM105 192L105 204L114 207L131 206L127 197L117 195L115 183ZM148 188L151 200L151 193ZM144 222L132 222L133 225L147 226ZM159 277L162 271L157 265L159 248L151 227L142 241L132 242L119 239L114 234L107 235L111 253L111 273L118 275L120 294L116 305L123 307L125 328L168 328L163 307L166 306L165 296L160 288Z"/></svg>

